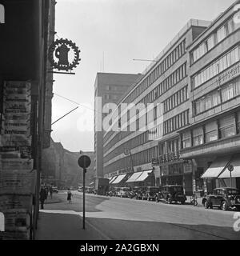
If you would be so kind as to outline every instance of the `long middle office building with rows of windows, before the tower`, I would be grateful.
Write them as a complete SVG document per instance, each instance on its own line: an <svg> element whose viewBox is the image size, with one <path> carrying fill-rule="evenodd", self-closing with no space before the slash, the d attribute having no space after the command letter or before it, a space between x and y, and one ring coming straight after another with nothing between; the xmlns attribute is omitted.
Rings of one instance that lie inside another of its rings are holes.
<svg viewBox="0 0 240 256"><path fill-rule="evenodd" d="M186 176L185 189L192 190L184 175L190 164L179 159L178 131L189 125L190 114L186 48L209 25L190 20L118 102L118 115L103 139L106 176L134 171L126 181L132 186L144 184L152 174L154 182L145 185L182 184Z"/></svg>

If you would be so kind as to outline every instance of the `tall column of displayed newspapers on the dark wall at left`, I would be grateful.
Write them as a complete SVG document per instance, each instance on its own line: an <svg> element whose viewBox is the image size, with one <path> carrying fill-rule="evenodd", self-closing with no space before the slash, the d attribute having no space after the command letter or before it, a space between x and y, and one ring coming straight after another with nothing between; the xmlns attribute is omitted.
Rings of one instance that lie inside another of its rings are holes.
<svg viewBox="0 0 240 256"><path fill-rule="evenodd" d="M0 137L0 211L5 216L2 239L30 239L35 191L31 158L30 82L4 82Z"/></svg>

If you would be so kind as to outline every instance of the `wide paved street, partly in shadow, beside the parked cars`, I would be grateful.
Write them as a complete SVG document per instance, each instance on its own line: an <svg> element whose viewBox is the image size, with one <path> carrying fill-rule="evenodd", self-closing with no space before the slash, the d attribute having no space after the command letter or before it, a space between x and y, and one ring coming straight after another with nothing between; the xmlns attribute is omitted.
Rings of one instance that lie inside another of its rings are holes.
<svg viewBox="0 0 240 256"><path fill-rule="evenodd" d="M68 214L62 230L60 226L63 224L58 223L59 232L68 234L79 224L74 239L80 240L78 232L82 232L82 219L78 215L82 216L82 193L74 191L73 194L72 203L68 203L66 192L59 191L56 197L62 202L46 204L41 214L49 215L53 222L54 216ZM240 239L240 231L234 231L236 213L187 204L168 205L165 202L86 194L86 230L90 226L102 239ZM73 218L74 223L71 222ZM47 228L51 229L50 226ZM45 235L45 239L64 239L64 234L53 234L50 230L45 230Z"/></svg>

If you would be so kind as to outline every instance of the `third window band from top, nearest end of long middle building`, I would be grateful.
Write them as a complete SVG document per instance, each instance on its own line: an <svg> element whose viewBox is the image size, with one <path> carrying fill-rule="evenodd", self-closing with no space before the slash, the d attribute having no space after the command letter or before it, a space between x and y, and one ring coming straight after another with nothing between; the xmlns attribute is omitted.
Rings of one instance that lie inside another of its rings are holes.
<svg viewBox="0 0 240 256"><path fill-rule="evenodd" d="M185 86L163 102L164 113L170 110L173 110L175 107L181 105L183 102L186 102L188 98L189 98L188 90L187 90L187 86Z"/></svg>

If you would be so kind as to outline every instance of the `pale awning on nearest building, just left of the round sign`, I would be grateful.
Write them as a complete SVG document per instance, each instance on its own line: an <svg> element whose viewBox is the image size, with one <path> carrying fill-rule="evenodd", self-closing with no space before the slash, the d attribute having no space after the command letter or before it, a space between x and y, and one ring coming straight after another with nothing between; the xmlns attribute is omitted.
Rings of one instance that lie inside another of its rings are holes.
<svg viewBox="0 0 240 256"><path fill-rule="evenodd" d="M230 162L230 156L216 158L206 172L202 174L201 178L218 178L219 174L226 168L228 162Z"/></svg>

